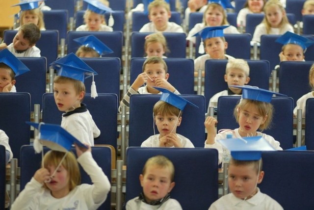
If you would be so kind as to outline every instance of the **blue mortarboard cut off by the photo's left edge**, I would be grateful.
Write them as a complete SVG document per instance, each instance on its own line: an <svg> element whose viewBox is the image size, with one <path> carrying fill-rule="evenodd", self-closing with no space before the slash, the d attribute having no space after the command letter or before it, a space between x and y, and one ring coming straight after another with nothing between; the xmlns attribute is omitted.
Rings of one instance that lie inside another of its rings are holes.
<svg viewBox="0 0 314 210"><path fill-rule="evenodd" d="M8 65L15 73L15 77L30 71L26 65L24 65L24 63L15 57L8 49L0 51L0 63Z"/></svg>

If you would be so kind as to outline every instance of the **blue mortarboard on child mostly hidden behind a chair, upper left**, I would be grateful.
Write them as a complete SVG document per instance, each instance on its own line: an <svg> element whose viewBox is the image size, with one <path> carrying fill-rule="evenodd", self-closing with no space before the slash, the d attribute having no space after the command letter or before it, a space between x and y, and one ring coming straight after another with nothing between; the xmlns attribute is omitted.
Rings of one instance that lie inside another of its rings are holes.
<svg viewBox="0 0 314 210"><path fill-rule="evenodd" d="M98 54L108 54L113 53L113 51L108 48L102 41L100 41L96 36L89 35L73 39L80 45L94 49Z"/></svg>

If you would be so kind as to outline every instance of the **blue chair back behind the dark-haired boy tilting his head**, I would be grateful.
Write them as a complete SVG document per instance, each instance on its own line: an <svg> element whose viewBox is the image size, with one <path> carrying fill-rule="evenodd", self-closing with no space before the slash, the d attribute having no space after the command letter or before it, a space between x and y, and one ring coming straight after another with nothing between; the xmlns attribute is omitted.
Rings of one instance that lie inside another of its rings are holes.
<svg viewBox="0 0 314 210"><path fill-rule="evenodd" d="M17 30L5 30L3 40L7 45L12 43ZM50 64L58 57L59 32L57 30L40 31L41 37L36 42L36 47L40 49L40 55L47 58Z"/></svg>

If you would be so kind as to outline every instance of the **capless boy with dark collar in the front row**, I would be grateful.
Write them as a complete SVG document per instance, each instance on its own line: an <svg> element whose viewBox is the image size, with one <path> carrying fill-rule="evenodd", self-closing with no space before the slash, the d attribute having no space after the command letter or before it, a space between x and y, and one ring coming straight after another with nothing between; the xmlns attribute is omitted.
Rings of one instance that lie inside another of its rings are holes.
<svg viewBox="0 0 314 210"><path fill-rule="evenodd" d="M175 199L170 198L170 192L175 186L175 168L173 163L164 156L149 158L139 175L143 192L127 202L127 210L161 209L182 210Z"/></svg>

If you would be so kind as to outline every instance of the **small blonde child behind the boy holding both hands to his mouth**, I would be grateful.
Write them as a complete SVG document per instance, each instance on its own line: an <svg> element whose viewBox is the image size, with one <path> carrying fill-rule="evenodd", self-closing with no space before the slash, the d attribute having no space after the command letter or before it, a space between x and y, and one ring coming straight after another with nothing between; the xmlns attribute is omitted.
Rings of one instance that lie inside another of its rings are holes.
<svg viewBox="0 0 314 210"><path fill-rule="evenodd" d="M161 58L167 58L163 54L169 52L167 47L167 40L162 33L157 32L145 37L144 50L146 57L158 56Z"/></svg>

